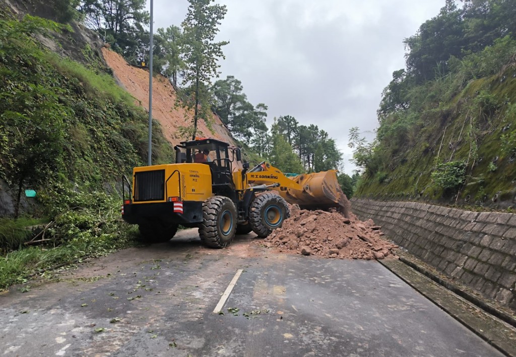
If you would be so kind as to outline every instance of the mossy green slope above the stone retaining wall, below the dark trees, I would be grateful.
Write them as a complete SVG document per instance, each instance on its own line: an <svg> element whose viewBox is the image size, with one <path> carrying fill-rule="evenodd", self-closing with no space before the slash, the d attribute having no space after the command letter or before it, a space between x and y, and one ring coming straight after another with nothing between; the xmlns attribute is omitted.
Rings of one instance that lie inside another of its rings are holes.
<svg viewBox="0 0 516 357"><path fill-rule="evenodd" d="M382 103L396 92L403 105L380 115L374 143L358 145L357 196L514 207L516 41L498 39L447 66L416 84L399 72L386 89Z"/></svg>

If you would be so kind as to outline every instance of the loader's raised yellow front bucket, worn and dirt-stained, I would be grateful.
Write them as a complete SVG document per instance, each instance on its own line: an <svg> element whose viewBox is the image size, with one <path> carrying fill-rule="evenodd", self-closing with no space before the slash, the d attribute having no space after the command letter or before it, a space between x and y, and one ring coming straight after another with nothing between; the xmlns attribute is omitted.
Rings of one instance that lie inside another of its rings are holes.
<svg viewBox="0 0 516 357"><path fill-rule="evenodd" d="M350 205L338 184L336 171L323 171L290 177L303 190L287 189L280 192L289 203L297 203L301 209L337 208L349 218Z"/></svg>

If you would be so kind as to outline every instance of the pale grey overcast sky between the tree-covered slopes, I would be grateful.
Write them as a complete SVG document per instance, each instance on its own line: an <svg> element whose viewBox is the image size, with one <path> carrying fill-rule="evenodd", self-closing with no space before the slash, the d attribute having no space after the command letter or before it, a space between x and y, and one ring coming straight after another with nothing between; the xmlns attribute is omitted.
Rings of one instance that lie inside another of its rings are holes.
<svg viewBox="0 0 516 357"><path fill-rule="evenodd" d="M228 12L218 40L221 78L239 79L253 104L268 107L267 124L292 115L335 139L344 171L354 169L348 131L368 139L392 73L405 67L403 40L439 13L445 0L217 0ZM148 6L150 1L148 1ZM187 0L154 0L154 31L180 26Z"/></svg>

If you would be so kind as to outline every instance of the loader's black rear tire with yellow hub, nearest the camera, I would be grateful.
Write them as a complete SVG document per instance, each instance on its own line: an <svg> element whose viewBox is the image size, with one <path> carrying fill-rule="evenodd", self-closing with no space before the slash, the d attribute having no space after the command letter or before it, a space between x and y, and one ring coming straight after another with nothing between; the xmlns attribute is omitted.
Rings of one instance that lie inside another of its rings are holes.
<svg viewBox="0 0 516 357"><path fill-rule="evenodd" d="M208 247L224 248L231 244L236 231L236 209L228 197L214 196L202 203L201 241Z"/></svg>

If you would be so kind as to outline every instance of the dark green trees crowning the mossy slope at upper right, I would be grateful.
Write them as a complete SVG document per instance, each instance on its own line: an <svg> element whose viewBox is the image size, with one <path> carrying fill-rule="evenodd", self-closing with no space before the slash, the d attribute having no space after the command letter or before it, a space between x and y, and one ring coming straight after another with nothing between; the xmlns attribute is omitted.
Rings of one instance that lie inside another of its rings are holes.
<svg viewBox="0 0 516 357"><path fill-rule="evenodd" d="M463 58L516 34L516 4L507 0L446 0L439 14L405 40L407 72L417 83L449 72L450 57Z"/></svg>

